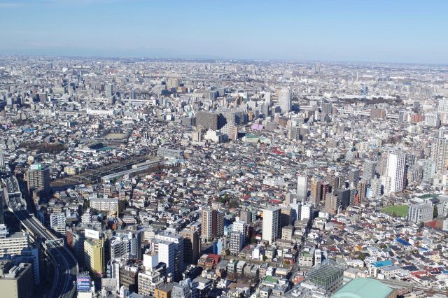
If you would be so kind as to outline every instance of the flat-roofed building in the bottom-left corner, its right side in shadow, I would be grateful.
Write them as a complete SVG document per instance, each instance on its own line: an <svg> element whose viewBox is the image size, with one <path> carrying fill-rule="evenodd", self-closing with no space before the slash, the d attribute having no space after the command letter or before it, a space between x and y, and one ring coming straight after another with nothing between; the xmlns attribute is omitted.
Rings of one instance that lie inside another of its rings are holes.
<svg viewBox="0 0 448 298"><path fill-rule="evenodd" d="M34 297L33 266L20 263L18 266L8 260L0 261L0 297Z"/></svg>

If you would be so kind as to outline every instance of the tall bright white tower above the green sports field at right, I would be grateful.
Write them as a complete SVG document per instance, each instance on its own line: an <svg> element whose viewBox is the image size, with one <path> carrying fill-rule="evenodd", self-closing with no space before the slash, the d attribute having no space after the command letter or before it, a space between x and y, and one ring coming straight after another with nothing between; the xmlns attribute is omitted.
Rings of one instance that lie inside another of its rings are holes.
<svg viewBox="0 0 448 298"><path fill-rule="evenodd" d="M387 157L387 173L386 181L386 193L402 192L405 186L405 162L406 155L402 152L388 152Z"/></svg>

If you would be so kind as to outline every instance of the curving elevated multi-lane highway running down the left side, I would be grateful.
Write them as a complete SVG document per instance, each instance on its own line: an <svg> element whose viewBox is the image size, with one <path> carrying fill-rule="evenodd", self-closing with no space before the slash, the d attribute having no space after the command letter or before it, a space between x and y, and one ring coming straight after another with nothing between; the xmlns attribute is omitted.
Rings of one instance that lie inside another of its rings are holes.
<svg viewBox="0 0 448 298"><path fill-rule="evenodd" d="M76 257L65 246L62 239L57 239L34 215L27 211L27 203L22 197L17 178L12 175L7 176L2 178L2 182L8 190L5 197L9 211L13 212L20 220L31 239L42 240L45 254L48 255L55 267L52 288L46 297L74 297L76 295L76 276L78 275Z"/></svg>

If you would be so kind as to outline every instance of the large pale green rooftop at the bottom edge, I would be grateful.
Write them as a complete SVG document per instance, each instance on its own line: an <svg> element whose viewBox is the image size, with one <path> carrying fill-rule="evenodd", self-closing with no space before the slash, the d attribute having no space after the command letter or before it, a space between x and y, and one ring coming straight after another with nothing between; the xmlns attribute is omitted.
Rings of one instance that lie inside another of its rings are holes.
<svg viewBox="0 0 448 298"><path fill-rule="evenodd" d="M393 289L372 278L356 278L340 288L331 298L386 298Z"/></svg>

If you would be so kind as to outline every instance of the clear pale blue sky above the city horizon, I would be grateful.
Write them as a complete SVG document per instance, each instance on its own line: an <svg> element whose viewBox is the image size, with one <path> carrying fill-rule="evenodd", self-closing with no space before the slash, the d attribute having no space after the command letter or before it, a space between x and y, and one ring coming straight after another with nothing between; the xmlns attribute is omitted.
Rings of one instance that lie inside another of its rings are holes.
<svg viewBox="0 0 448 298"><path fill-rule="evenodd" d="M448 64L447 13L447 0L0 0L0 55Z"/></svg>

